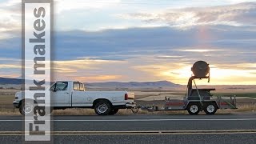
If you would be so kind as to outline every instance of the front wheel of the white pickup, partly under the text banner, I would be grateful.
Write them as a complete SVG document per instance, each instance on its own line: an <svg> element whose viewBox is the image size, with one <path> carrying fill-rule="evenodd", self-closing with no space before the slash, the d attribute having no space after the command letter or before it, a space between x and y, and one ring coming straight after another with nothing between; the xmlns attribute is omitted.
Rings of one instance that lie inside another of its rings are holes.
<svg viewBox="0 0 256 144"><path fill-rule="evenodd" d="M19 112L22 115L33 115L34 114L34 102L33 101L22 101L22 104L19 106Z"/></svg>

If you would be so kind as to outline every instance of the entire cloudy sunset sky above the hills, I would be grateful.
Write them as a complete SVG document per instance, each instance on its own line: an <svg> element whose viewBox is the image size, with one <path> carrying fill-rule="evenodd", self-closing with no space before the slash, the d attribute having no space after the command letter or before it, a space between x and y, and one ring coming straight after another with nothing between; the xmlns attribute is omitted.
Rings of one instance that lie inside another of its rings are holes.
<svg viewBox="0 0 256 144"><path fill-rule="evenodd" d="M0 77L21 77L21 11L0 0ZM255 41L256 1L54 0L54 80L186 85L203 60L211 85L255 85Z"/></svg>

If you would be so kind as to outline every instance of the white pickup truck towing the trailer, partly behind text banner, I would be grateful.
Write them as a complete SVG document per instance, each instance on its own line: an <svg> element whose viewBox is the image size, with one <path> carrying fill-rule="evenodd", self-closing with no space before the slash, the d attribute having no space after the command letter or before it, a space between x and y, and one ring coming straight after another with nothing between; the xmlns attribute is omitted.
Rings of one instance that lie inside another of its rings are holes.
<svg viewBox="0 0 256 144"><path fill-rule="evenodd" d="M135 106L134 93L126 91L86 91L81 82L55 82L50 86L51 110L66 108L92 108L98 115L113 115L119 109ZM33 104L29 104L22 96L22 92L15 94L14 107L19 108L21 114L31 114ZM26 98L34 102L34 97Z"/></svg>

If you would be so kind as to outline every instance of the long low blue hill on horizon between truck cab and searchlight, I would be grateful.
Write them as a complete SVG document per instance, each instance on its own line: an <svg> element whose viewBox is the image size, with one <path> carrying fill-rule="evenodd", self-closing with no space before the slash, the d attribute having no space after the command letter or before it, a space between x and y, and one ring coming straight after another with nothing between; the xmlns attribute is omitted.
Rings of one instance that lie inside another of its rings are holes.
<svg viewBox="0 0 256 144"><path fill-rule="evenodd" d="M85 83L88 87L104 88L159 88L159 87L178 87L180 85L168 81L158 82L94 82Z"/></svg>

